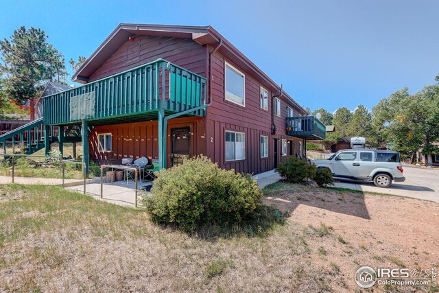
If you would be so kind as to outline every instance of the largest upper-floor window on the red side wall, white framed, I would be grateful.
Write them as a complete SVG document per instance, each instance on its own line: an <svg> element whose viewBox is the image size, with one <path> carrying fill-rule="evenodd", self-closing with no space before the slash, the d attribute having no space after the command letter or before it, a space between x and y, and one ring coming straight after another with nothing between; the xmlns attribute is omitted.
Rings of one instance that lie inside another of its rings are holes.
<svg viewBox="0 0 439 293"><path fill-rule="evenodd" d="M226 100L246 106L246 75L225 62L224 69Z"/></svg>

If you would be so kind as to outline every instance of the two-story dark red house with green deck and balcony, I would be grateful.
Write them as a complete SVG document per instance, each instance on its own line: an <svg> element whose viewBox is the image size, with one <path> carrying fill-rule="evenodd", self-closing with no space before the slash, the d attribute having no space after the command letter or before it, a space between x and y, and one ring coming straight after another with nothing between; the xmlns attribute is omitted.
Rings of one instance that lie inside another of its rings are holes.
<svg viewBox="0 0 439 293"><path fill-rule="evenodd" d="M73 81L84 85L44 97L40 123L80 128L86 163L146 156L171 167L204 154L258 174L324 138L318 119L211 26L122 23Z"/></svg>

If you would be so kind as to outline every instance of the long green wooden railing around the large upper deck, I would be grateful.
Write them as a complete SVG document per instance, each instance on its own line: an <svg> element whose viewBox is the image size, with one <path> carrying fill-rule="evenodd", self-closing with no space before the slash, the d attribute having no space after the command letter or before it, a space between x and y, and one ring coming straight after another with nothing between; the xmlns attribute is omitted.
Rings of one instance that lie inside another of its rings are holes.
<svg viewBox="0 0 439 293"><path fill-rule="evenodd" d="M163 59L43 98L46 125L179 113L207 104L206 79ZM190 115L204 116L205 110Z"/></svg>

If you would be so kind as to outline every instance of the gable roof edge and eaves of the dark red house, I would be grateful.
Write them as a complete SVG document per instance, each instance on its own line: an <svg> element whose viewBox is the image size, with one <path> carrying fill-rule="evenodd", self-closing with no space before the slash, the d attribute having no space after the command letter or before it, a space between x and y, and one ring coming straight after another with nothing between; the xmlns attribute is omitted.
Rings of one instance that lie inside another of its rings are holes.
<svg viewBox="0 0 439 293"><path fill-rule="evenodd" d="M281 86L278 86L271 78L268 77L259 67L254 65L250 59L241 53L235 46L233 46L224 36L219 34L213 27L208 26L190 26L190 25L148 25L139 23L121 23L115 30L104 40L104 42L97 47L91 56L84 62L84 64L73 74L72 80L75 82L86 83L88 78L115 53L123 43L126 43L128 38L133 35L145 36L167 36L173 38L190 38L200 45L211 45L215 47L219 40L222 40L222 45L217 50L224 55L235 65L252 73L255 78L265 86L268 86L272 91L281 91ZM295 104L303 113L307 111L300 106L287 93L283 93L293 104Z"/></svg>

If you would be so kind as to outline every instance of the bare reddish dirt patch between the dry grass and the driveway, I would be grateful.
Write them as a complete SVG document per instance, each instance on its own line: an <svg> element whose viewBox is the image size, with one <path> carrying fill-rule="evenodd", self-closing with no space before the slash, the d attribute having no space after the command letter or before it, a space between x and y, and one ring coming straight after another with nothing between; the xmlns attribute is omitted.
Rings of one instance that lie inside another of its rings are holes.
<svg viewBox="0 0 439 293"><path fill-rule="evenodd" d="M290 213L292 225L307 226L314 234L320 230L325 234L324 227L330 227L327 234L308 241L312 263L336 263L352 290L357 289L353 276L360 266L439 267L438 203L283 183L270 189L264 202ZM381 288L389 292L398 289Z"/></svg>

